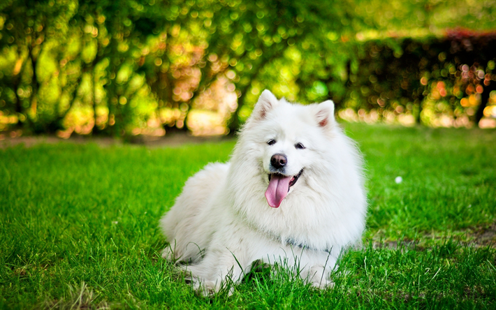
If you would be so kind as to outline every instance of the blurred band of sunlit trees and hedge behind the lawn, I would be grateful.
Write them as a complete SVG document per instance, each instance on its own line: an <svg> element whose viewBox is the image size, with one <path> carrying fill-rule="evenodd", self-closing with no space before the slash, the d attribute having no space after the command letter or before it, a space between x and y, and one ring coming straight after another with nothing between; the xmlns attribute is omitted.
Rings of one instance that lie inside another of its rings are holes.
<svg viewBox="0 0 496 310"><path fill-rule="evenodd" d="M234 132L263 89L496 127L496 1L3 0L0 138Z"/></svg>

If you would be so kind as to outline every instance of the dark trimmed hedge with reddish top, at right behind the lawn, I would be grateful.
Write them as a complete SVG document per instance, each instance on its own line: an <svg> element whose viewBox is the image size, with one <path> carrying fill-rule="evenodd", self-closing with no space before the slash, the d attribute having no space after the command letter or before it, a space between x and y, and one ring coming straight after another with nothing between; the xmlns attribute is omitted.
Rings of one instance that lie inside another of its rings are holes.
<svg viewBox="0 0 496 310"><path fill-rule="evenodd" d="M395 112L429 124L423 105L478 124L495 90L496 33L451 31L444 38L371 40L360 47L360 71L351 78L348 105ZM481 98L476 99L476 95ZM468 96L467 99L464 97ZM472 97L470 97L472 96ZM476 108L476 110L475 110ZM424 116L424 117L422 117Z"/></svg>

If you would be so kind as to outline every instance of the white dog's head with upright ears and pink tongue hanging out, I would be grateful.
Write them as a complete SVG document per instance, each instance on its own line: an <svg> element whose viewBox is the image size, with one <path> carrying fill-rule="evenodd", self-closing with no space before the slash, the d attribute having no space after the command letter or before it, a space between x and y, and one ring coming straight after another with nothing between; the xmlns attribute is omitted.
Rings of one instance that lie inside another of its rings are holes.
<svg viewBox="0 0 496 310"><path fill-rule="evenodd" d="M279 207L286 195L327 165L326 148L335 128L334 103L298 105L263 91L242 131L257 161L265 198L270 207ZM294 188L293 188L294 186Z"/></svg>

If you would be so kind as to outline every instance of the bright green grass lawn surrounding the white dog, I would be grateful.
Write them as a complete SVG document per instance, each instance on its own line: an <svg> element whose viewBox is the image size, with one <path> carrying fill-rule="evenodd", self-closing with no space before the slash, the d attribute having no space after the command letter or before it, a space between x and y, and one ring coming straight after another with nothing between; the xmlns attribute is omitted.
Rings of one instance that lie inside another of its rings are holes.
<svg viewBox="0 0 496 310"><path fill-rule="evenodd" d="M335 287L260 272L210 300L160 258L157 225L234 142L0 149L0 309L495 309L496 131L346 128L370 209Z"/></svg>

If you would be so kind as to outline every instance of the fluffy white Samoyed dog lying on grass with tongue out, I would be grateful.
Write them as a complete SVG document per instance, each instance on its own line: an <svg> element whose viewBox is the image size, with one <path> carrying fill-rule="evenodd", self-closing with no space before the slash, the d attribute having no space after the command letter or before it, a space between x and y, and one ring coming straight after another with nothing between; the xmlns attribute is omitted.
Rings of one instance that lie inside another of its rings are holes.
<svg viewBox="0 0 496 310"><path fill-rule="evenodd" d="M366 212L362 158L333 101L292 104L265 90L231 160L190 177L162 217L162 255L187 263L204 295L254 263L284 262L325 288L340 253L360 242Z"/></svg>

